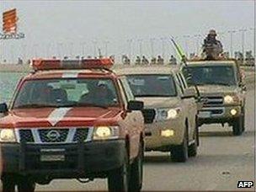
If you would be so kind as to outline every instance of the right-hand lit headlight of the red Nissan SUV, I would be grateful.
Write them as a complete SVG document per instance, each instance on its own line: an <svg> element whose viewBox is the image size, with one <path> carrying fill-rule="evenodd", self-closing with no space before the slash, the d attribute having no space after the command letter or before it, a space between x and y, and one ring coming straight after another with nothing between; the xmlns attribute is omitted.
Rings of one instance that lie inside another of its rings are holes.
<svg viewBox="0 0 256 192"><path fill-rule="evenodd" d="M98 126L93 131L93 140L116 139L118 136L118 126Z"/></svg>

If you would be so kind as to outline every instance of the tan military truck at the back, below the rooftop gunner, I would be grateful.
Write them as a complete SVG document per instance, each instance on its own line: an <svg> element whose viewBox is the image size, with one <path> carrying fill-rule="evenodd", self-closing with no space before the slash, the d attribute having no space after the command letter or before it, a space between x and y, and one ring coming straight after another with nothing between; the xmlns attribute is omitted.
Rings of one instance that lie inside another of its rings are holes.
<svg viewBox="0 0 256 192"><path fill-rule="evenodd" d="M237 61L188 61L182 67L189 85L200 91L203 108L199 125L220 123L232 125L232 132L240 136L244 131L245 83Z"/></svg>

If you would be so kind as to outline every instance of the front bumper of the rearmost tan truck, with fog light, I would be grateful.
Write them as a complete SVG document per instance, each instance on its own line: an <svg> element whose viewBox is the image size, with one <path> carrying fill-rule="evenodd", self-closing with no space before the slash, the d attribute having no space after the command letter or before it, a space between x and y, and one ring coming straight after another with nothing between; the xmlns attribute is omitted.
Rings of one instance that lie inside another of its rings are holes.
<svg viewBox="0 0 256 192"><path fill-rule="evenodd" d="M237 111L236 115L232 115L231 110ZM214 124L214 123L229 123L233 119L241 115L241 106L207 106L203 107L199 111L199 123L202 124Z"/></svg>

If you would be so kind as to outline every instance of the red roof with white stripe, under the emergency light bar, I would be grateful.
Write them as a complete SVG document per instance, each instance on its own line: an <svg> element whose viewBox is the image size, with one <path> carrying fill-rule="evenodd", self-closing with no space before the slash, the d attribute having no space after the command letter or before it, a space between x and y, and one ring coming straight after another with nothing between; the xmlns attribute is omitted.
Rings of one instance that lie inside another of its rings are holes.
<svg viewBox="0 0 256 192"><path fill-rule="evenodd" d="M106 69L82 69L82 70L43 70L31 72L24 79L44 78L76 78L76 77L116 77L115 73Z"/></svg>

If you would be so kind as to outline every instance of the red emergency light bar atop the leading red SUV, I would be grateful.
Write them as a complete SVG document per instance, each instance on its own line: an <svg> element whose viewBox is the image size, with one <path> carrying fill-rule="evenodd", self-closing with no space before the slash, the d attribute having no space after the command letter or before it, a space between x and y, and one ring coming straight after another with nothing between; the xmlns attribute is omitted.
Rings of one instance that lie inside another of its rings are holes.
<svg viewBox="0 0 256 192"><path fill-rule="evenodd" d="M38 70L58 70L58 69L109 69L114 65L111 58L83 59L83 60L58 60L58 59L35 59L32 67Z"/></svg>

